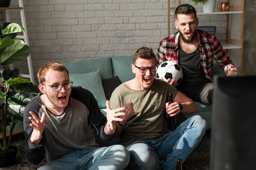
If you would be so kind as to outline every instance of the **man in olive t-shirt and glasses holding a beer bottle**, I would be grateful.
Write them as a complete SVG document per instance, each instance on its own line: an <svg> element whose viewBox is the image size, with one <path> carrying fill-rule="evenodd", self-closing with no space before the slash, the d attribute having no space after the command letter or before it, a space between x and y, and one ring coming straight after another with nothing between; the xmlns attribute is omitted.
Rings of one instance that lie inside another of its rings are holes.
<svg viewBox="0 0 256 170"><path fill-rule="evenodd" d="M207 128L206 121L196 115L164 134L165 110L169 116L175 116L181 111L195 112L197 105L172 85L155 79L156 70L153 50L139 48L132 64L135 78L119 85L110 98L112 109L127 105L134 109L134 113L130 112L130 107L122 110L126 114L119 118L124 121L117 124L121 144L130 152L128 170L175 170L177 158L184 162ZM168 103L169 93L174 97L171 104Z"/></svg>

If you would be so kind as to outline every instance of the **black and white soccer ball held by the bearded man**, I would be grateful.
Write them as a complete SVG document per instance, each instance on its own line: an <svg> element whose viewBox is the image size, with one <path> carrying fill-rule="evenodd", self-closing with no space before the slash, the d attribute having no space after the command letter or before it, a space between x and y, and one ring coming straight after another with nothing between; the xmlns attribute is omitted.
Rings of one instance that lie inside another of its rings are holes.
<svg viewBox="0 0 256 170"><path fill-rule="evenodd" d="M157 78L163 78L166 81L168 78L174 79L176 85L180 84L183 78L183 73L180 65L174 61L165 61L157 68Z"/></svg>

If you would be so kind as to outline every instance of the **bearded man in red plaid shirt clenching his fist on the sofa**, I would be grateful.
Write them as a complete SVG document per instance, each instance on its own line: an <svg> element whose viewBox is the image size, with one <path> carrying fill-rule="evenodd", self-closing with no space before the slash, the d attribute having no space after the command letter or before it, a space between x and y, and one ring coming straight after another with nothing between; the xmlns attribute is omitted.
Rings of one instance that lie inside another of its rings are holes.
<svg viewBox="0 0 256 170"><path fill-rule="evenodd" d="M178 6L174 24L178 32L159 43L157 65L167 60L178 63L182 67L183 79L177 90L194 101L209 104L212 102L213 59L227 76L236 76L238 71L216 36L196 29L198 18L193 6ZM166 82L176 86L170 78Z"/></svg>

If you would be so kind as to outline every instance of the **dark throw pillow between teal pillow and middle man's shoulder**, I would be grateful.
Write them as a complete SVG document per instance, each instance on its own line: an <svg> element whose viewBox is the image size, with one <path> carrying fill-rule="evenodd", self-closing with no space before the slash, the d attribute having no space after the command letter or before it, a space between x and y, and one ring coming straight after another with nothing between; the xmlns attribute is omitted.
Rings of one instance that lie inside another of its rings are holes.
<svg viewBox="0 0 256 170"><path fill-rule="evenodd" d="M105 96L106 96L107 100L110 99L110 96L111 96L112 92L119 85L121 85L121 81L118 78L118 76L102 80L102 86L103 86L103 89L104 89Z"/></svg>

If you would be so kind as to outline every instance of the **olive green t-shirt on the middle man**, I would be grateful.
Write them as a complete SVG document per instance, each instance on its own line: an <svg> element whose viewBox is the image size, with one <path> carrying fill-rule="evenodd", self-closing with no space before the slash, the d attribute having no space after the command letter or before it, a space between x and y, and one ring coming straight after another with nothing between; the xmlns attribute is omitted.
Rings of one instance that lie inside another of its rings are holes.
<svg viewBox="0 0 256 170"><path fill-rule="evenodd" d="M175 98L177 90L159 79L155 79L148 89L133 90L122 83L114 90L110 98L110 108L117 109L132 102L135 111L121 133L122 145L164 135L163 115L168 93L173 93Z"/></svg>

